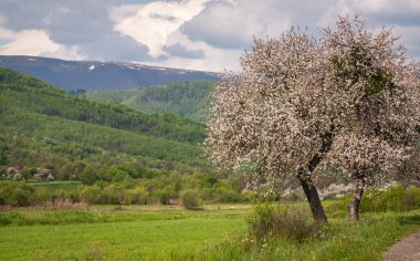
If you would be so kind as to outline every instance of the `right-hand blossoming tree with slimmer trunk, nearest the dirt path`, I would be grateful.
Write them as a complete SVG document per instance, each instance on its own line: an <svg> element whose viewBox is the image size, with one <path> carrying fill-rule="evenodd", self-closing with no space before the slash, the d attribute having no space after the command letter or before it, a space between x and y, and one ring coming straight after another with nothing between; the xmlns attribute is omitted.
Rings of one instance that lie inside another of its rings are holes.
<svg viewBox="0 0 420 261"><path fill-rule="evenodd" d="M327 161L354 184L349 213L355 220L364 189L407 180L397 167L417 150L419 67L403 46L396 46L397 40L391 30L367 31L357 17L339 18L337 27L324 30L322 38L330 60L328 80L348 90L343 97L348 104L345 121Z"/></svg>

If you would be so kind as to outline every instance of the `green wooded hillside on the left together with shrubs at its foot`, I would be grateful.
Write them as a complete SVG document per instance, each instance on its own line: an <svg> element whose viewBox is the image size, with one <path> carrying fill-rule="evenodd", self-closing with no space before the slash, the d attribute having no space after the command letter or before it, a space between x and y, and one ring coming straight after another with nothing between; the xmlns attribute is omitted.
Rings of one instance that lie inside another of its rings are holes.
<svg viewBox="0 0 420 261"><path fill-rule="evenodd" d="M209 201L248 200L240 178L212 171L200 145L204 125L192 119L74 96L7 69L0 69L0 203L36 205L54 197L169 203L188 189ZM21 176L8 177L10 167ZM76 185L35 186L36 169Z"/></svg>

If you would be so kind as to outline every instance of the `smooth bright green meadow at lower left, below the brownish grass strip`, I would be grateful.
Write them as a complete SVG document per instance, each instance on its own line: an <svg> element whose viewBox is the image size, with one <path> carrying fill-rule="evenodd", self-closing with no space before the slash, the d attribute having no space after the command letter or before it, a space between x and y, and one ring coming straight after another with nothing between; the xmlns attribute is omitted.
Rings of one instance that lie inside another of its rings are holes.
<svg viewBox="0 0 420 261"><path fill-rule="evenodd" d="M242 219L202 218L8 227L1 229L0 259L160 259L189 254L243 228Z"/></svg>

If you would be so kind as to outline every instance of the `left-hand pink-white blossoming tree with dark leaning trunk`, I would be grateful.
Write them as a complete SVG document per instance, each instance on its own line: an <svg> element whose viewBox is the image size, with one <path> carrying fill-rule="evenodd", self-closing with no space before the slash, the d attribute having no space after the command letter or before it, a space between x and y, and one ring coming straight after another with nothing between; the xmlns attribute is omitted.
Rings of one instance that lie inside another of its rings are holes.
<svg viewBox="0 0 420 261"><path fill-rule="evenodd" d="M312 174L332 146L338 115L318 55L315 40L296 30L255 40L243 72L213 90L207 144L219 167L248 175L250 188L300 180L315 219L326 222Z"/></svg>

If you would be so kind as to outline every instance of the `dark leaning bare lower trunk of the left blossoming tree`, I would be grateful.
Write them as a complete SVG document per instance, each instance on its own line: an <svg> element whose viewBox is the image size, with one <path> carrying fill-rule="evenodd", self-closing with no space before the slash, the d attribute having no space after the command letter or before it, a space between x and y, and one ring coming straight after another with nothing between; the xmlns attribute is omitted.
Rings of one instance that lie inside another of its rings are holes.
<svg viewBox="0 0 420 261"><path fill-rule="evenodd" d="M318 191L313 185L312 180L298 177L303 191L305 192L306 199L309 202L312 216L315 221L322 223L328 223L327 216L324 212L323 205L321 203Z"/></svg>

